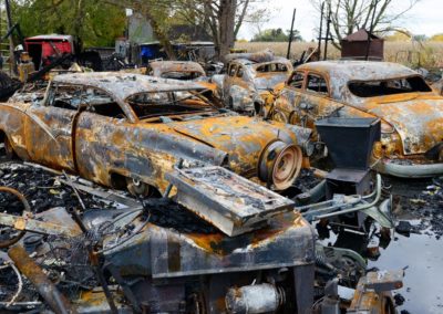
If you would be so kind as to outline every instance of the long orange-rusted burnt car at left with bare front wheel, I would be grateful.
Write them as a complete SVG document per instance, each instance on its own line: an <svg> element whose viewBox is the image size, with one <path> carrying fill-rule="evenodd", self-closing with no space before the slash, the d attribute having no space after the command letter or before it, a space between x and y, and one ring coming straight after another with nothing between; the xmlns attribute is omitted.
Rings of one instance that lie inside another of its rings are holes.
<svg viewBox="0 0 443 314"><path fill-rule="evenodd" d="M145 196L164 192L177 164L289 188L301 167L298 128L222 112L207 92L140 74L58 75L42 101L0 104L0 138L10 157Z"/></svg>

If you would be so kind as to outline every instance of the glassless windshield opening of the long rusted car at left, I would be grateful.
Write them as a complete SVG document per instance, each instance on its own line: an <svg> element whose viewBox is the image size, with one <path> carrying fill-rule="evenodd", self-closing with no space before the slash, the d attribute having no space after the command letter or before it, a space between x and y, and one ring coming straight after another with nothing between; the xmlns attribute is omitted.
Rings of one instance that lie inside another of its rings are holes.
<svg viewBox="0 0 443 314"><path fill-rule="evenodd" d="M140 93L127 103L140 119L150 117L213 112L214 107L203 96L205 91Z"/></svg>

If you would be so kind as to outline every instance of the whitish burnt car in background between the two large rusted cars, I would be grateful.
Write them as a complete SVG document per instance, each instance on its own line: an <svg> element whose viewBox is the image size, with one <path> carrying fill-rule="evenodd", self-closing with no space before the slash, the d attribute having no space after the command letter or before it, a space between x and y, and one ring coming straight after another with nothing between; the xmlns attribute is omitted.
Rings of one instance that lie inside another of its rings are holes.
<svg viewBox="0 0 443 314"><path fill-rule="evenodd" d="M227 55L227 73L214 75L225 106L237 112L255 114L271 95L275 85L285 82L292 64L270 52Z"/></svg>

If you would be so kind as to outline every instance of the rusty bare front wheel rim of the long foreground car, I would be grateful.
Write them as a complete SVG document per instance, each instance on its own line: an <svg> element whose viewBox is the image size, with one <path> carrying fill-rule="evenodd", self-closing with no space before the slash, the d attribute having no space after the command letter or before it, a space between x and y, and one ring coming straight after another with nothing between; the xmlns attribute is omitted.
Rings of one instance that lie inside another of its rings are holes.
<svg viewBox="0 0 443 314"><path fill-rule="evenodd" d="M277 156L272 169L272 182L276 189L289 188L301 169L301 149L295 145L287 146Z"/></svg>

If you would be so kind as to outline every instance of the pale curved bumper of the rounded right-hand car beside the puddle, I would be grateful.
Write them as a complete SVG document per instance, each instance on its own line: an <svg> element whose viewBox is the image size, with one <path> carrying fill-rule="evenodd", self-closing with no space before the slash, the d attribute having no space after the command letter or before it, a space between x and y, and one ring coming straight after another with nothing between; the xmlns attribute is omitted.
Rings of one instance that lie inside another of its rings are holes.
<svg viewBox="0 0 443 314"><path fill-rule="evenodd" d="M443 163L404 165L390 159L381 159L374 170L399 178L429 178L443 175Z"/></svg>

